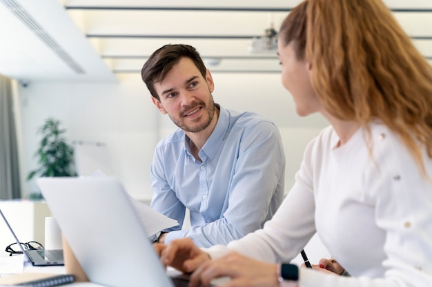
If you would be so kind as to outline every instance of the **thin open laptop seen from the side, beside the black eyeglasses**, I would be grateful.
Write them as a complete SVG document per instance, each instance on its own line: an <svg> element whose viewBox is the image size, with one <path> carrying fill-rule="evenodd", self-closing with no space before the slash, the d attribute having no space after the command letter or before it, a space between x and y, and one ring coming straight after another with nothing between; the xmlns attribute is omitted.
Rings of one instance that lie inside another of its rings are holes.
<svg viewBox="0 0 432 287"><path fill-rule="evenodd" d="M17 242L17 245L19 248L21 248L22 253L24 256L27 257L28 261L31 262L34 266L56 266L56 265L63 265L63 250L56 249L56 250L46 250L46 249L37 249L37 250L26 250L19 244L19 240L17 235L14 233L12 227L10 226L8 220L6 220L5 215L3 212L1 212L0 209L0 215L3 217L4 222L8 226L10 233L12 233L15 241Z"/></svg>

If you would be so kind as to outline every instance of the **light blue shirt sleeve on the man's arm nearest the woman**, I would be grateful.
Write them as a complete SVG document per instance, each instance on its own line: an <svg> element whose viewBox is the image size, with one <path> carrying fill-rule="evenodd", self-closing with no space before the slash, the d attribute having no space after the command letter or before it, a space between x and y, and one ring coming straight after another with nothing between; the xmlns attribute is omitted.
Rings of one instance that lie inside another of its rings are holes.
<svg viewBox="0 0 432 287"><path fill-rule="evenodd" d="M166 243L190 237L198 246L209 247L228 244L262 228L269 219L268 214L274 214L282 202L284 193L284 148L273 123L260 121L242 135L234 170L226 209L220 218L188 230L170 232ZM273 197L277 206L271 206Z"/></svg>

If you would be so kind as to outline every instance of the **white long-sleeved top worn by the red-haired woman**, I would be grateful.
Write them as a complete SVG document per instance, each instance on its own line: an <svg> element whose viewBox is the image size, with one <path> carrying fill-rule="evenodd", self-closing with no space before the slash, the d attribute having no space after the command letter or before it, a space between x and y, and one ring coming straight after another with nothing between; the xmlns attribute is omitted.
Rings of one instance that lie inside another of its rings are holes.
<svg viewBox="0 0 432 287"><path fill-rule="evenodd" d="M317 232L352 277L301 268L302 287L432 286L432 160L424 151L427 178L397 135L370 127L371 149L363 129L341 147L333 127L324 129L273 219L208 253L290 262Z"/></svg>

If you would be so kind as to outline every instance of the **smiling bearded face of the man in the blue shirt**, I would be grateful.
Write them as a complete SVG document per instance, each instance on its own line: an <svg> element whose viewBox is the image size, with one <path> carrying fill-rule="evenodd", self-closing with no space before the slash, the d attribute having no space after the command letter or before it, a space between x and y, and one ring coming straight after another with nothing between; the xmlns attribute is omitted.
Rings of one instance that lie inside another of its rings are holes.
<svg viewBox="0 0 432 287"><path fill-rule="evenodd" d="M189 58L180 59L163 81L155 83L155 90L160 100L152 97L153 103L184 131L197 133L213 120L213 78L208 70L203 78Z"/></svg>

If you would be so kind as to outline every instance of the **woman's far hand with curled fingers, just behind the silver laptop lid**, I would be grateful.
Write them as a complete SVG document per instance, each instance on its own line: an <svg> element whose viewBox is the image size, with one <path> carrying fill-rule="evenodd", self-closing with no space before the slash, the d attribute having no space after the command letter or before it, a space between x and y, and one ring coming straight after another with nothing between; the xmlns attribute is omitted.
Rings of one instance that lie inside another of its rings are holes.
<svg viewBox="0 0 432 287"><path fill-rule="evenodd" d="M210 261L210 256L201 251L189 238L173 240L164 246L159 253L162 263L183 273L191 273L203 262Z"/></svg>

